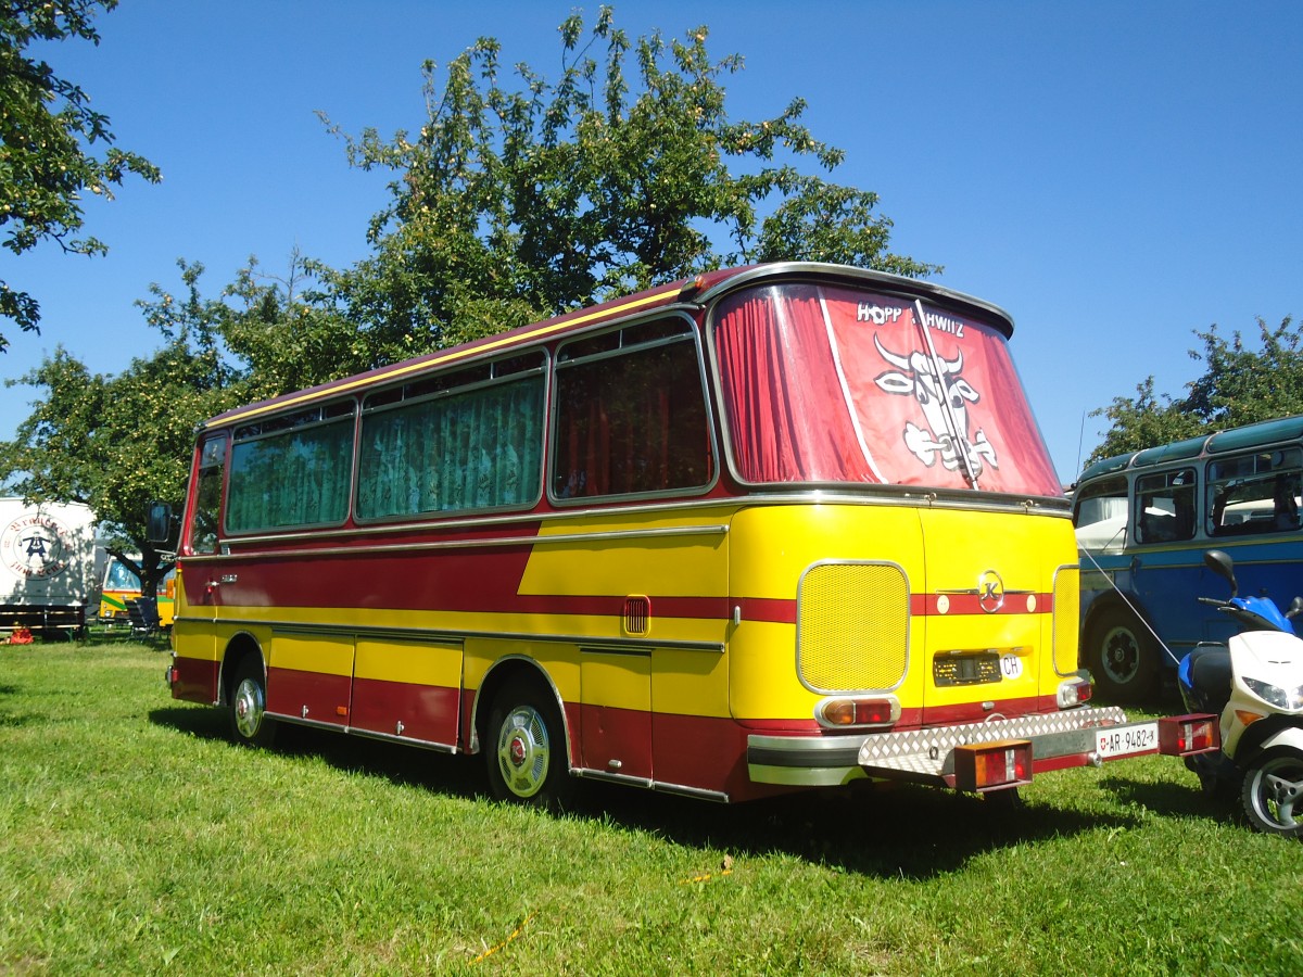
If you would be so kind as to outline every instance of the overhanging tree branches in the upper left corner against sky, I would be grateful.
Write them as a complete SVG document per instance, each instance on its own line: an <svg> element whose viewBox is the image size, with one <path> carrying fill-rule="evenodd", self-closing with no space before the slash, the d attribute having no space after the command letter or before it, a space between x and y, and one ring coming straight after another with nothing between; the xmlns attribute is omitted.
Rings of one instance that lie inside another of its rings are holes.
<svg viewBox="0 0 1303 977"><path fill-rule="evenodd" d="M128 173L158 182L158 169L143 156L112 149L108 116L90 107L78 86L60 78L43 60L27 55L33 42L79 38L99 43L96 8L117 0L8 0L0 5L0 228L14 254L55 241L70 254L103 254L82 228L82 194L112 199L111 186ZM106 149L95 155L96 143ZM36 330L40 305L29 293L0 281L0 317L22 330ZM0 335L0 350L8 340Z"/></svg>

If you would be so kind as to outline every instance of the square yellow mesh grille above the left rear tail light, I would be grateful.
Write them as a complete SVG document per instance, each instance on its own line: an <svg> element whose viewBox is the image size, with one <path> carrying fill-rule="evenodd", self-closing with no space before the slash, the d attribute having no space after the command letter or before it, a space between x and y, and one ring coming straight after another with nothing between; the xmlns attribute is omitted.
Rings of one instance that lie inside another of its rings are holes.
<svg viewBox="0 0 1303 977"><path fill-rule="evenodd" d="M909 659L909 582L885 563L821 563L801 580L796 660L826 692L893 689Z"/></svg>

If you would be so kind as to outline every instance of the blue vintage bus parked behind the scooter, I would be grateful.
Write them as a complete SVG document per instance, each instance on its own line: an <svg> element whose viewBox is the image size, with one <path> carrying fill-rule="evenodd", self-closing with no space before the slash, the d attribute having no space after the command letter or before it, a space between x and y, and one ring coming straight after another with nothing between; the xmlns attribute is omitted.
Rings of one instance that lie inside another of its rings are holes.
<svg viewBox="0 0 1303 977"><path fill-rule="evenodd" d="M1101 693L1151 696L1195 645L1234 620L1204 552L1235 560L1240 593L1283 610L1303 595L1303 417L1247 425L1105 459L1074 491L1083 658Z"/></svg>

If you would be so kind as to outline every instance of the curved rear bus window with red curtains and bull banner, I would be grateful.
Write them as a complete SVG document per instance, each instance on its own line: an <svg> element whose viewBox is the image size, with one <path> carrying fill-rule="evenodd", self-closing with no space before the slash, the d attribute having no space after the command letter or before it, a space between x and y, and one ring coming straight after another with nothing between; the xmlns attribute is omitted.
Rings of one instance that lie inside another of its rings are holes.
<svg viewBox="0 0 1303 977"><path fill-rule="evenodd" d="M724 417L748 483L1062 495L995 326L921 300L807 284L715 315Z"/></svg>

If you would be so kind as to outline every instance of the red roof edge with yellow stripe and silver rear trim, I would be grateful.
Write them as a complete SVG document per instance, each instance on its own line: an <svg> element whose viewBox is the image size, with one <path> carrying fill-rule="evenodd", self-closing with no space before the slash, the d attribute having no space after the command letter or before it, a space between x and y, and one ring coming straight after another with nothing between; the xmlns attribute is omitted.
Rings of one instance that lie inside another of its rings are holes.
<svg viewBox="0 0 1303 977"><path fill-rule="evenodd" d="M262 414L287 408L309 406L344 393L366 389L391 380L421 375L423 373L437 370L440 366L466 363L481 357L487 358L519 347L580 332L585 328L593 328L605 322L636 313L648 313L670 306L700 307L715 301L726 292L779 277L816 277L826 281L840 280L843 283L860 285L868 284L891 292L906 292L908 294L942 301L947 305L959 306L971 313L976 313L990 326L999 330L1005 339L1009 339L1014 333L1012 318L999 306L962 292L954 292L932 281L903 277L900 275L891 275L882 271L855 268L847 264L827 264L821 262L748 264L737 268L704 272L693 279L683 279L666 285L657 285L655 288L650 288L644 292L623 296L620 298L612 298L599 305L577 309L572 313L566 313L564 315L543 319L541 322L499 332L493 336L485 336L461 345L448 347L447 349L439 349L433 353L426 353L425 356L392 363L390 366L380 366L353 376L345 376L339 380L331 380L315 387L309 387L302 391L283 393L278 397L263 400L257 404L235 408L201 423L199 430L202 431L210 427L220 427L227 423L259 417Z"/></svg>

